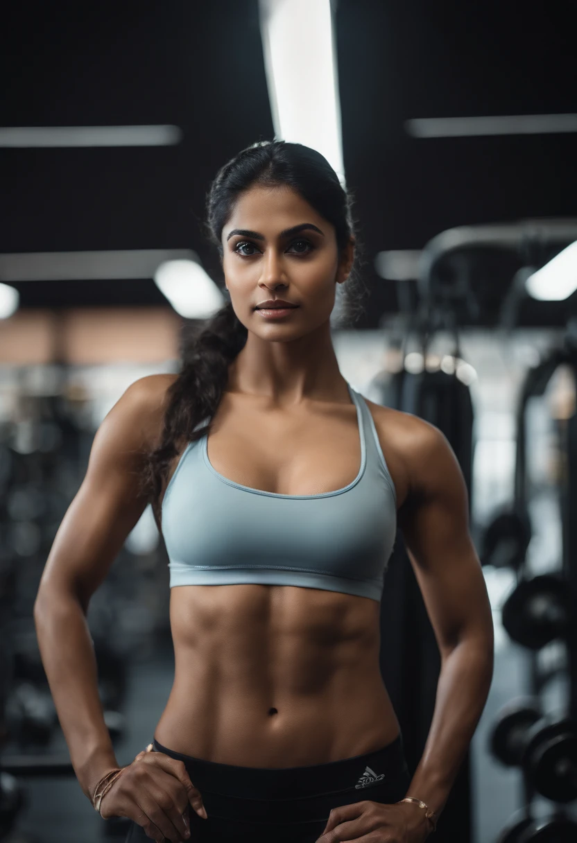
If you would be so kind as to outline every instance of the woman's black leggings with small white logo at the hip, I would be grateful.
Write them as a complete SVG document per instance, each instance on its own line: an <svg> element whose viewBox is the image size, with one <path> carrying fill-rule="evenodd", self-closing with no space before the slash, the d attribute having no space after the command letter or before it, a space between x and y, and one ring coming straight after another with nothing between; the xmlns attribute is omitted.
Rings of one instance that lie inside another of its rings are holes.
<svg viewBox="0 0 577 843"><path fill-rule="evenodd" d="M189 807L190 843L315 843L331 808L369 799L393 803L411 781L399 735L364 755L305 767L240 767L193 758L153 742L183 761L208 819ZM132 822L126 843L150 838Z"/></svg>

